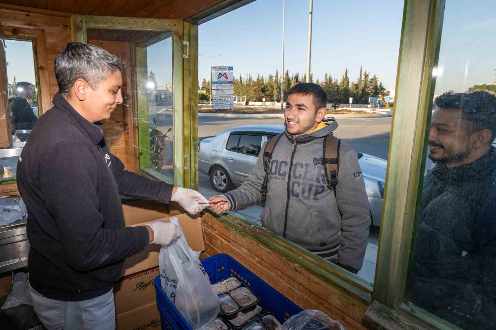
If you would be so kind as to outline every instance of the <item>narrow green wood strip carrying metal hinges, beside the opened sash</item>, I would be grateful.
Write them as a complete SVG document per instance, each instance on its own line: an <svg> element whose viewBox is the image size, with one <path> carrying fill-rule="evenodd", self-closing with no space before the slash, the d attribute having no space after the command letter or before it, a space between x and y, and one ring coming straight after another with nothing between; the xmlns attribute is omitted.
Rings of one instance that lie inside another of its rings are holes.
<svg viewBox="0 0 496 330"><path fill-rule="evenodd" d="M190 59L189 54L189 23L183 23L183 40L187 42L186 45L183 44L183 147L184 147L184 187L191 188L191 155L190 144L191 144L191 107L190 107L190 93L191 93L191 72L190 72ZM187 56L187 57L185 57ZM187 157L186 157L187 155Z"/></svg>

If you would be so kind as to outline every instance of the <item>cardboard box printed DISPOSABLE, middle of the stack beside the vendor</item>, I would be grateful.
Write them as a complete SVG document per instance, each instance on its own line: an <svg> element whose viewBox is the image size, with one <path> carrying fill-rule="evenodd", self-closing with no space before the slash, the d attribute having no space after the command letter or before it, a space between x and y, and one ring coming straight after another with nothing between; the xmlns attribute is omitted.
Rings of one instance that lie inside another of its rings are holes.
<svg viewBox="0 0 496 330"><path fill-rule="evenodd" d="M116 315L129 312L156 301L153 279L158 267L124 277L114 285Z"/></svg>

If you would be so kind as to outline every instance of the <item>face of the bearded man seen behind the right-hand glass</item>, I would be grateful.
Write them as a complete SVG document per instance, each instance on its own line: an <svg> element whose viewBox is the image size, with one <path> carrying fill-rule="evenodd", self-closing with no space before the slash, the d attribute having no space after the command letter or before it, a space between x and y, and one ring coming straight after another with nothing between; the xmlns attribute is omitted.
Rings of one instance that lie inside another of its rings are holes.
<svg viewBox="0 0 496 330"><path fill-rule="evenodd" d="M474 133L461 110L435 110L429 130L428 157L448 167L463 164L474 151Z"/></svg>

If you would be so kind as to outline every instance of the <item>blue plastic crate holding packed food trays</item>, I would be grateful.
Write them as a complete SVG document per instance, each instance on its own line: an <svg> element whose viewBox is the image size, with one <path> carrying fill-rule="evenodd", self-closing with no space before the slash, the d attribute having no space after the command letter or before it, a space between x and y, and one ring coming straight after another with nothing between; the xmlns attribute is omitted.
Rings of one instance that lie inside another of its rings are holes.
<svg viewBox="0 0 496 330"><path fill-rule="evenodd" d="M259 298L259 305L265 311L272 312L279 321L284 322L302 311L291 300L280 294L248 269L227 254L217 254L203 259L201 264L208 273L210 283L215 284L235 276L248 286ZM165 295L160 284L160 276L155 277L155 292L160 311L162 330L193 330L179 313L176 306Z"/></svg>

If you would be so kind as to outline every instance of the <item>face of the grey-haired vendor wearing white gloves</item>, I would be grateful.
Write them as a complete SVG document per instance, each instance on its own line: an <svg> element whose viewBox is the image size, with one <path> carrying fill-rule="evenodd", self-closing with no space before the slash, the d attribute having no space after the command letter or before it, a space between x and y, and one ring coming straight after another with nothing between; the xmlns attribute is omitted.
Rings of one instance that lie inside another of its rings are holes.
<svg viewBox="0 0 496 330"><path fill-rule="evenodd" d="M86 119L91 122L109 119L117 105L123 103L122 84L121 71L116 70L113 74L109 72L107 78L98 84L97 89L89 88L84 100Z"/></svg>

